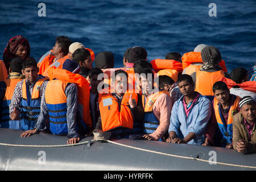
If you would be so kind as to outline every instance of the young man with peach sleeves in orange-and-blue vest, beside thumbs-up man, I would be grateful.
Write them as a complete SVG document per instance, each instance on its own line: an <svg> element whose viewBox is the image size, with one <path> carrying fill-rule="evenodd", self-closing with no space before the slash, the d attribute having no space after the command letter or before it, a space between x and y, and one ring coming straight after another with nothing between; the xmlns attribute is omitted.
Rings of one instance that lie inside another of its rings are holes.
<svg viewBox="0 0 256 182"><path fill-rule="evenodd" d="M143 69L139 77L144 107L143 138L146 140L164 140L171 116L171 98L169 93L154 85L154 73Z"/></svg>

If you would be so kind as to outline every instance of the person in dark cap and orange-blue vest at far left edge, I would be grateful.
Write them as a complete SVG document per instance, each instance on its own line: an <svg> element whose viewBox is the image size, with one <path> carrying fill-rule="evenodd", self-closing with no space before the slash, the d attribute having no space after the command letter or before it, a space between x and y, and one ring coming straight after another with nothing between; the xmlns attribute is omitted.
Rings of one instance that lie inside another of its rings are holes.
<svg viewBox="0 0 256 182"><path fill-rule="evenodd" d="M19 121L13 121L9 115L9 105L16 84L25 77L22 75L23 59L16 57L11 60L9 67L9 77L0 82L0 127L9 129L19 129Z"/></svg>

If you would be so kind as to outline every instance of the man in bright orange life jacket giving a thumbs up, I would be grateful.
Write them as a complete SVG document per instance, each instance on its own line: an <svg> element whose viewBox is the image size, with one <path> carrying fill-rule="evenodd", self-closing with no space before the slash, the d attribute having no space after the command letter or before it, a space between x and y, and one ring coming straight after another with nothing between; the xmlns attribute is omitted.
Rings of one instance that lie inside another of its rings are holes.
<svg viewBox="0 0 256 182"><path fill-rule="evenodd" d="M141 96L127 90L127 77L125 71L115 71L112 79L114 92L109 92L109 88L99 92L100 117L96 131L110 131L114 138L128 138L130 134L142 132L144 112Z"/></svg>

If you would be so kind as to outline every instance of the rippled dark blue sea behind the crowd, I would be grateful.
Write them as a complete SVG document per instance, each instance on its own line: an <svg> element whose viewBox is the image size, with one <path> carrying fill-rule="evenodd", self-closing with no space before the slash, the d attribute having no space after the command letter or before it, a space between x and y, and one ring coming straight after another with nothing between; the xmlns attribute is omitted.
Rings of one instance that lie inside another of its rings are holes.
<svg viewBox="0 0 256 182"><path fill-rule="evenodd" d="M123 67L126 49L146 48L148 61L185 52L201 43L217 47L228 72L250 68L256 55L256 1L0 1L0 59L7 42L23 35L37 61L57 36L68 36L94 53L114 53ZM208 15L216 3L217 16ZM39 17L39 3L46 17Z"/></svg>

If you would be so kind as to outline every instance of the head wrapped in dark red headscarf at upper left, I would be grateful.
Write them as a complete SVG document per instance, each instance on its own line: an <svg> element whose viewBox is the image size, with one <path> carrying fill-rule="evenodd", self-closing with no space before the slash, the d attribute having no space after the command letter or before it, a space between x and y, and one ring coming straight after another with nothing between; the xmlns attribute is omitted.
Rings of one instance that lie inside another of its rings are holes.
<svg viewBox="0 0 256 182"><path fill-rule="evenodd" d="M3 62L7 72L9 72L10 62L14 57L20 57L23 60L30 56L30 44L28 40L21 35L14 36L9 40L5 51L3 52Z"/></svg>

